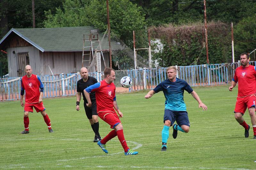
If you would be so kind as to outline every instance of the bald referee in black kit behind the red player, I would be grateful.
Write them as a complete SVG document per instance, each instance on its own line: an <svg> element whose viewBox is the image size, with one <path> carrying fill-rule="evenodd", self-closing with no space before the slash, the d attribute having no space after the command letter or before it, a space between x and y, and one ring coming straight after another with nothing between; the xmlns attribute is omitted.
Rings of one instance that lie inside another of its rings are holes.
<svg viewBox="0 0 256 170"><path fill-rule="evenodd" d="M98 142L101 140L101 137L99 133L99 120L98 120L95 92L90 93L90 98L92 101L91 107L86 106L86 103L88 102L84 96L84 89L91 86L92 84L97 83L98 81L94 77L88 76L88 71L87 71L87 68L85 67L81 68L80 75L82 79L77 81L77 88L76 88L76 110L77 111L79 110L79 104L80 104L81 93L82 93L83 99L84 99L84 110L92 126L92 130L95 133L93 142Z"/></svg>

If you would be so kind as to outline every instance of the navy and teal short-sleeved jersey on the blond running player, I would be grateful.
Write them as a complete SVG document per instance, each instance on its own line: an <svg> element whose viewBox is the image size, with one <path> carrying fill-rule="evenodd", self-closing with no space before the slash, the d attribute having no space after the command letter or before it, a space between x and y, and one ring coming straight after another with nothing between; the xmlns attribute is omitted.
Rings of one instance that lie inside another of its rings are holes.
<svg viewBox="0 0 256 170"><path fill-rule="evenodd" d="M175 82L166 79L153 89L154 92L158 93L159 91L164 92L165 97L165 108L174 111L186 111L186 104L183 100L184 90L188 93L191 93L193 89L188 85L184 80L176 78Z"/></svg>

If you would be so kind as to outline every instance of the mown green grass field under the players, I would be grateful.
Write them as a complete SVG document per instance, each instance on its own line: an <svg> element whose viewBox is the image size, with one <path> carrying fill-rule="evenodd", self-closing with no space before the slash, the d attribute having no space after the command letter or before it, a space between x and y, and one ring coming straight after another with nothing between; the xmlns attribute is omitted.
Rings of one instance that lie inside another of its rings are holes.
<svg viewBox="0 0 256 170"><path fill-rule="evenodd" d="M76 111L76 98L44 99L54 133L49 133L40 113L30 113L29 134L24 130L19 101L1 102L0 169L256 169L256 140L244 138L244 128L233 114L237 87L194 88L208 111L198 109L184 93L190 120L189 133L178 132L167 151L161 152L164 95L144 99L147 91L117 94L124 136L138 155L125 156L118 138L107 143L108 154L93 143L94 134L84 110ZM248 111L245 121L251 125ZM99 120L102 137L111 130Z"/></svg>

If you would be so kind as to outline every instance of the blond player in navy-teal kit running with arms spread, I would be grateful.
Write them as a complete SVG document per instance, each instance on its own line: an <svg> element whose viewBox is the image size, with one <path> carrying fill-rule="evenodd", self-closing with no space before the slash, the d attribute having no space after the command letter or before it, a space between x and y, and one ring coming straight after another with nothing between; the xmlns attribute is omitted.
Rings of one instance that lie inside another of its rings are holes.
<svg viewBox="0 0 256 170"><path fill-rule="evenodd" d="M176 121L173 127L173 138L177 138L178 131L188 133L189 120L186 104L183 100L184 90L190 93L196 101L199 103L199 108L207 110L207 106L200 100L197 93L188 85L184 80L176 78L177 69L174 66L167 68L168 79L162 81L156 86L155 89L150 90L145 96L146 99L152 97L159 91L164 92L165 96L165 108L164 108L164 128L162 130L162 148L161 151L166 151L167 140L169 138L169 128Z"/></svg>

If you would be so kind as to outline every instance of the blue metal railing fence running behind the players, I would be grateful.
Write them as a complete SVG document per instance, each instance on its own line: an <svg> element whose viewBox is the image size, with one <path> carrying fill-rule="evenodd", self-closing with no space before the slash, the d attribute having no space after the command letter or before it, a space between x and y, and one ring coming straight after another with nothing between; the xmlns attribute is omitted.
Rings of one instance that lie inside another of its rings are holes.
<svg viewBox="0 0 256 170"><path fill-rule="evenodd" d="M256 61L250 62L251 65ZM195 66L178 66L177 77L189 83L190 86L210 86L230 83L234 76L234 69L239 63L211 64ZM166 68L144 68L136 70L116 71L116 87L120 87L123 76L132 78L129 91L154 89L161 81L167 79ZM90 76L103 80L103 72L91 72ZM81 79L80 74L60 74L39 76L44 83L43 97L74 96L76 95L76 82ZM15 80L14 80L15 79ZM0 101L20 99L20 78L0 79Z"/></svg>

